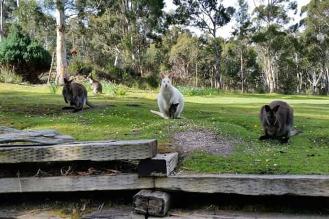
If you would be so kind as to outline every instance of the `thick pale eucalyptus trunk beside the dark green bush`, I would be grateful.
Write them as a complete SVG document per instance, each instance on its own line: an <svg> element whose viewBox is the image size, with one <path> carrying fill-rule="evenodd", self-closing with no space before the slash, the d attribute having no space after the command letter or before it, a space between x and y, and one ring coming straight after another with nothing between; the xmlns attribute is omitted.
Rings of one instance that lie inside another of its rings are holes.
<svg viewBox="0 0 329 219"><path fill-rule="evenodd" d="M55 0L56 5L56 83L64 83L64 78L68 78L66 46L65 46L65 14L64 0Z"/></svg>

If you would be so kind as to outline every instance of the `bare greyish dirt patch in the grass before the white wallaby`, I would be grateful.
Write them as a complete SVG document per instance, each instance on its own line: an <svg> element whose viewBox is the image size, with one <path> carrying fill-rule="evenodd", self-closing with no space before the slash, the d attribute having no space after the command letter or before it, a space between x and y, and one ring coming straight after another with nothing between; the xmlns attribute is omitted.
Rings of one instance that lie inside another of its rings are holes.
<svg viewBox="0 0 329 219"><path fill-rule="evenodd" d="M240 140L239 140L240 141ZM194 151L205 151L210 155L229 156L234 153L234 141L217 136L215 131L189 130L173 135L174 146L185 157Z"/></svg>

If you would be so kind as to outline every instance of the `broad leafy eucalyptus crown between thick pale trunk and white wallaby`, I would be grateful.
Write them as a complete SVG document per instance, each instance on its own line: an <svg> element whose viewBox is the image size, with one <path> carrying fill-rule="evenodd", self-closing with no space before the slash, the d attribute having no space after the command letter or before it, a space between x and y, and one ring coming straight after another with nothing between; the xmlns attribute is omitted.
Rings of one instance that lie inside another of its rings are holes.
<svg viewBox="0 0 329 219"><path fill-rule="evenodd" d="M162 32L163 1L114 0L103 13L90 17L93 47L111 58L113 66L143 75L146 52Z"/></svg>

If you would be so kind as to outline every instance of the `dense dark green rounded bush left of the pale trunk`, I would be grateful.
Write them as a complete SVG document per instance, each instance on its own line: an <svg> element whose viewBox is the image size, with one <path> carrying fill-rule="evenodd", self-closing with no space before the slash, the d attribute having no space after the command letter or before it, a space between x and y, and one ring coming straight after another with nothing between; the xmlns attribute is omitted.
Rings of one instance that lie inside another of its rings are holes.
<svg viewBox="0 0 329 219"><path fill-rule="evenodd" d="M14 25L8 38L0 42L0 64L14 69L26 81L38 83L38 76L49 70L51 55Z"/></svg>

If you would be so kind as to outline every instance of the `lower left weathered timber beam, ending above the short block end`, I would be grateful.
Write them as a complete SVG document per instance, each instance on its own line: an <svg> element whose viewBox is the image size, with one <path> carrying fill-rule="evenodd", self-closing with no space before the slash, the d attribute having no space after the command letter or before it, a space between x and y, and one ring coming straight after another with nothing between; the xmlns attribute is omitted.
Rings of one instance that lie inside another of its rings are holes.
<svg viewBox="0 0 329 219"><path fill-rule="evenodd" d="M137 174L66 177L0 178L0 193L139 190L154 187L154 180Z"/></svg>

